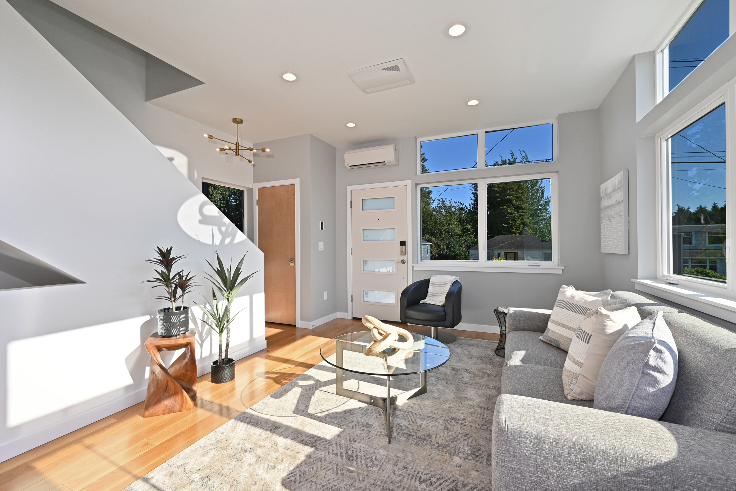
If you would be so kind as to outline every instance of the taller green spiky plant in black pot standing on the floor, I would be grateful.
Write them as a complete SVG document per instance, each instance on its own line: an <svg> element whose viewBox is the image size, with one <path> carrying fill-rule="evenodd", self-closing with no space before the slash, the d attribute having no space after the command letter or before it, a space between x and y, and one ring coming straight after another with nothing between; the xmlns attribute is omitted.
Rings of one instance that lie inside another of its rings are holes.
<svg viewBox="0 0 736 491"><path fill-rule="evenodd" d="M247 252L246 252L247 254ZM207 261L205 259L205 261ZM245 284L247 280L255 275L258 271L252 272L245 278L240 278L241 269L243 267L243 261L245 261L245 255L238 263L235 269L233 269L233 260L230 258L230 266L227 269L222 264L219 253L217 253L217 266L213 266L210 261L207 264L212 268L214 275L205 273L207 279L212 283L212 303L207 300L207 305L197 306L202 309L207 319L202 319L206 325L217 333L220 339L219 353L217 355L217 361L212 362L212 371L210 372L210 378L213 384L224 384L235 378L235 361L230 358L230 325L233 320L237 317L240 312L233 313L233 300L235 300L236 294ZM222 297L218 299L217 293ZM222 336L226 336L225 352L222 354Z"/></svg>

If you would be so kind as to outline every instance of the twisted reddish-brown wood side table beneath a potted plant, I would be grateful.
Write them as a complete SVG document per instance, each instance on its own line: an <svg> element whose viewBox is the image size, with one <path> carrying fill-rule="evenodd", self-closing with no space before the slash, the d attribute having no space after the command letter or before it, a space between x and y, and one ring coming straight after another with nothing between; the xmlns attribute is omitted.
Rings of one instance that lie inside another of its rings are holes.
<svg viewBox="0 0 736 491"><path fill-rule="evenodd" d="M172 412L188 411L197 400L197 358L194 335L197 329L173 338L162 338L154 333L146 340L146 350L151 354L151 370L143 416L159 416ZM167 369L161 361L164 350L180 350L184 353Z"/></svg>

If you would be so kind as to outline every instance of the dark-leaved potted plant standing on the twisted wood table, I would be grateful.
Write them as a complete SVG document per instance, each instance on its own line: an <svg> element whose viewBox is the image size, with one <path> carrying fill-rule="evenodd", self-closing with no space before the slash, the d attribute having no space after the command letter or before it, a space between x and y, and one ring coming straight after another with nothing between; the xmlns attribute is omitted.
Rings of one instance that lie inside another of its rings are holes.
<svg viewBox="0 0 736 491"><path fill-rule="evenodd" d="M171 255L174 247L163 249L156 247L158 257L146 259L147 262L159 266L154 269L156 276L144 283L155 283L151 288L163 288L166 292L153 300L166 300L171 302L171 307L158 310L158 333L161 337L170 338L181 336L189 331L189 308L184 305L184 297L190 293L197 283L191 272L184 273L183 270L174 272L174 264L185 258L185 255ZM177 303L180 303L177 306Z"/></svg>

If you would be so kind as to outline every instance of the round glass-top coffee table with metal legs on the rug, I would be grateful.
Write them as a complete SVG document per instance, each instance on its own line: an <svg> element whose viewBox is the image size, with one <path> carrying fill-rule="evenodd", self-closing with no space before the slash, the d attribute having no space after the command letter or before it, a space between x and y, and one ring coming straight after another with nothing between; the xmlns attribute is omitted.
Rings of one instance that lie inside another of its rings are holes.
<svg viewBox="0 0 736 491"><path fill-rule="evenodd" d="M450 350L436 339L417 333L411 333L411 336L414 337L414 345L408 350L389 348L372 356L363 354L365 347L373 341L370 331L343 334L330 339L319 348L322 358L336 368L337 395L383 409L389 443L391 443L391 406L425 394L427 392L427 372L442 367L450 359ZM406 339L404 336L399 336L398 341L405 342ZM343 386L344 370L386 377L386 397L381 398L345 389ZM417 389L391 395L392 377L417 374L420 376L420 386Z"/></svg>

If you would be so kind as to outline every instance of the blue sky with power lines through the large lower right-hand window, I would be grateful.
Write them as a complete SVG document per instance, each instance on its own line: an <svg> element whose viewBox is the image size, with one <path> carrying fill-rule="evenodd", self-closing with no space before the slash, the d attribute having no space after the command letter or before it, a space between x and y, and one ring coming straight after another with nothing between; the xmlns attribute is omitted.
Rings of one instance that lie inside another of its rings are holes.
<svg viewBox="0 0 736 491"><path fill-rule="evenodd" d="M670 138L672 211L726 202L726 106Z"/></svg>

